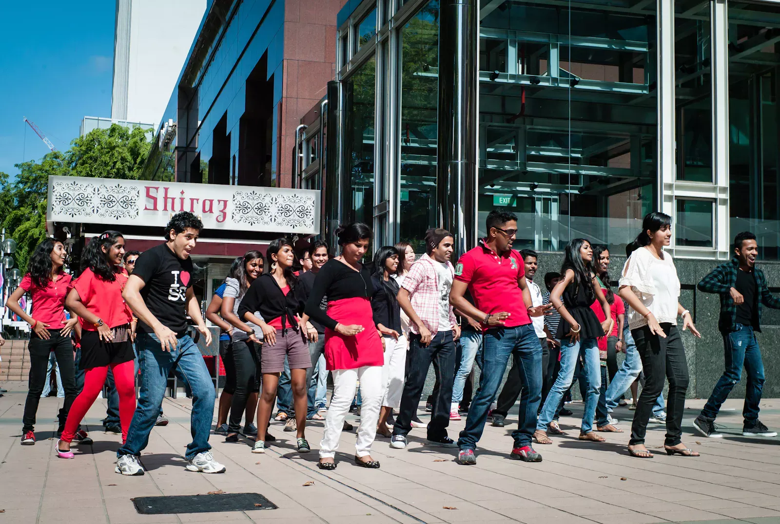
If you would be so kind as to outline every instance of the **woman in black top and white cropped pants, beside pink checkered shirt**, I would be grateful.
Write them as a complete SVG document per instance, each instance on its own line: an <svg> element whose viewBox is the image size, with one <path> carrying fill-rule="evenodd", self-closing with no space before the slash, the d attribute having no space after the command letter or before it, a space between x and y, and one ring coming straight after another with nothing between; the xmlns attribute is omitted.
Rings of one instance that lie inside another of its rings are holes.
<svg viewBox="0 0 780 524"><path fill-rule="evenodd" d="M399 253L393 246L379 248L374 255L374 274L371 282L374 295L371 296L371 308L374 310L374 323L382 335L385 344L385 365L382 367L382 384L385 395L379 412L377 433L382 437L392 437L386 425L393 409L401 407L403 376L406 370L406 337L401 331L401 306L395 296L399 285L393 275L399 271Z"/></svg>

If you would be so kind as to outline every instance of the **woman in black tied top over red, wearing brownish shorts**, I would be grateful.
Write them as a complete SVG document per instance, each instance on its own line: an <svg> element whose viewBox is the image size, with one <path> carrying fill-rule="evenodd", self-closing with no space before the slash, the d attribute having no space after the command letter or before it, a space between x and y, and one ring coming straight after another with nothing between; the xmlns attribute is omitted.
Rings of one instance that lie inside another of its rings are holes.
<svg viewBox="0 0 780 524"><path fill-rule="evenodd" d="M295 255L293 246L287 239L271 242L265 255L268 257L271 272L254 279L238 310L240 320L261 327L265 342L260 357L263 378L260 402L257 403L257 441L252 452L265 452L265 441L260 439L268 430L271 409L276 401L279 374L285 369L286 356L298 424L297 448L298 451L307 453L310 447L305 436L306 370L311 366L311 359L308 345L304 342L304 335L299 327L298 315L303 313L303 286L299 285L298 278L293 274ZM262 318L255 316L255 311L259 312ZM310 329L313 331L314 328Z"/></svg>

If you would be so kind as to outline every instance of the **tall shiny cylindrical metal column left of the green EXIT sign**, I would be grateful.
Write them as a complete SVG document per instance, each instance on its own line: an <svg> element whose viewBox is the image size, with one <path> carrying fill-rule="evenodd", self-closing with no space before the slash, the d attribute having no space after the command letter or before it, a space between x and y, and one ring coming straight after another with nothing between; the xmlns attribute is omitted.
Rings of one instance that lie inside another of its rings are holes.
<svg viewBox="0 0 780 524"><path fill-rule="evenodd" d="M439 26L437 214L456 257L477 243L477 0L443 0Z"/></svg>

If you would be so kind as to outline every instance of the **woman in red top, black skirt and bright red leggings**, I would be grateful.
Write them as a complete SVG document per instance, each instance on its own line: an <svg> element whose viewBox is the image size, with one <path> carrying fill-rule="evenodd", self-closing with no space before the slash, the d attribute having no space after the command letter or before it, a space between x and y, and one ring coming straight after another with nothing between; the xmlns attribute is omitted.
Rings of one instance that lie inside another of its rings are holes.
<svg viewBox="0 0 780 524"><path fill-rule="evenodd" d="M136 409L135 366L130 323L133 315L122 299L127 274L119 265L125 254L125 239L118 231L102 233L84 248L79 278L66 299L66 306L83 320L81 369L87 370L84 388L73 401L65 430L57 442L60 458L73 458L70 442L87 410L105 384L108 369L119 393L119 423L122 443Z"/></svg>

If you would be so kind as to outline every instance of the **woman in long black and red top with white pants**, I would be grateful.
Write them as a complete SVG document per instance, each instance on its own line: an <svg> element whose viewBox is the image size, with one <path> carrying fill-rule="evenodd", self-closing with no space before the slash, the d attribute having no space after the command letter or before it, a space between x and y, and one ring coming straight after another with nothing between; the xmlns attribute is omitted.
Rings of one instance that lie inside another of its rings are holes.
<svg viewBox="0 0 780 524"><path fill-rule="evenodd" d="M306 303L307 315L325 326L325 362L333 372L333 396L320 443L319 467L336 468L334 457L344 417L360 380L363 405L355 462L358 466L378 468L379 462L371 458L371 444L377 434L379 409L385 394L382 383L385 356L371 309L374 293L371 273L360 264L371 242L371 228L353 222L336 229L335 234L342 247L341 255L321 267ZM327 311L320 309L324 296L328 297Z"/></svg>

